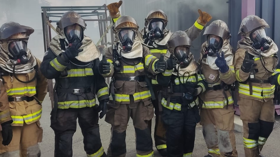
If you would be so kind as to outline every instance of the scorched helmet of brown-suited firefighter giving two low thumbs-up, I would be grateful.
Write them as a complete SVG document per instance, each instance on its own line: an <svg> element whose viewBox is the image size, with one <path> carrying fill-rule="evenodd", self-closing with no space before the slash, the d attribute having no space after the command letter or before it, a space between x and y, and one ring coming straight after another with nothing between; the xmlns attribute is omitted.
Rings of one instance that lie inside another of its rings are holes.
<svg viewBox="0 0 280 157"><path fill-rule="evenodd" d="M132 28L137 31L139 26L134 18L130 16L121 16L116 21L114 30L118 31L121 28Z"/></svg>

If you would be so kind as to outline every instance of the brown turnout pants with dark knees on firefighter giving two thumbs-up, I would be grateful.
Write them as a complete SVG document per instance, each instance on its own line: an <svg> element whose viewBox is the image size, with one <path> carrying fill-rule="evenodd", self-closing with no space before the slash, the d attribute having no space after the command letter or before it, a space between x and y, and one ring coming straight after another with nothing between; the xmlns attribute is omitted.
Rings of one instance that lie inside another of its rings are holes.
<svg viewBox="0 0 280 157"><path fill-rule="evenodd" d="M131 100L133 101L133 98ZM153 157L153 142L148 122L154 116L154 108L150 101L130 104L109 103L108 109L105 121L111 124L111 140L107 156L126 155L126 128L131 117L136 134L137 157Z"/></svg>

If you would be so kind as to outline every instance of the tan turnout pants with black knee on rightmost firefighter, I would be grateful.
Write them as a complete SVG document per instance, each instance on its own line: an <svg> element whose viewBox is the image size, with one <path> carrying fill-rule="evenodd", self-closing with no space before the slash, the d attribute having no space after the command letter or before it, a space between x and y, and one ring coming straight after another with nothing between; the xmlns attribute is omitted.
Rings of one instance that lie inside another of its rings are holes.
<svg viewBox="0 0 280 157"><path fill-rule="evenodd" d="M274 127L273 99L260 102L248 98L238 100L243 122L243 144L246 157L259 156Z"/></svg>

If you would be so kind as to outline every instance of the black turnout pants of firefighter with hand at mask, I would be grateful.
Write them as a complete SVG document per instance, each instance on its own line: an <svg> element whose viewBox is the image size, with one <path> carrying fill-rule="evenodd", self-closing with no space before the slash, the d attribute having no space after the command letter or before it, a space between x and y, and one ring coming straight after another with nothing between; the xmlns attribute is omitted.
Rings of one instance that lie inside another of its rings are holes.
<svg viewBox="0 0 280 157"><path fill-rule="evenodd" d="M72 157L72 137L77 118L84 136L84 150L89 157L106 156L101 144L98 112L95 107L57 109L56 120L51 118L54 130L54 157Z"/></svg>

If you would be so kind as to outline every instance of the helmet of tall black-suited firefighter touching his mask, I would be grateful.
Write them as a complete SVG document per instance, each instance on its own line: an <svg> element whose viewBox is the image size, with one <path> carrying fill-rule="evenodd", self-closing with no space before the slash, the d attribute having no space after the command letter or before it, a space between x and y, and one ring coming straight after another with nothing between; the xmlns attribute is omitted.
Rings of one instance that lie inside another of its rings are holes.
<svg viewBox="0 0 280 157"><path fill-rule="evenodd" d="M62 30L69 26L69 25L74 25L74 24L78 24L81 27L84 28L84 30L86 29L86 22L84 21L84 19L80 16L79 13L76 13L75 11L67 11L66 13L64 13L59 22L56 23L58 25L59 28L61 28Z"/></svg>

